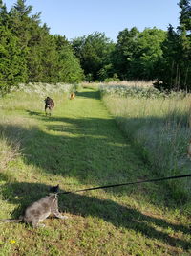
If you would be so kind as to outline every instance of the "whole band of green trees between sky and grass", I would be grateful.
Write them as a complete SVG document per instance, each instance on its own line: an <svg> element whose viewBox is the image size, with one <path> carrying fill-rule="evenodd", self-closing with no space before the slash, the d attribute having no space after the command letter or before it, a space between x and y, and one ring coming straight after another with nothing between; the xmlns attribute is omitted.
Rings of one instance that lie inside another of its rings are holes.
<svg viewBox="0 0 191 256"><path fill-rule="evenodd" d="M0 0L0 89L24 82L155 81L166 90L191 91L191 3L180 0L180 25L167 31L124 29L113 42L104 33L69 41L51 35L26 0L8 12Z"/></svg>

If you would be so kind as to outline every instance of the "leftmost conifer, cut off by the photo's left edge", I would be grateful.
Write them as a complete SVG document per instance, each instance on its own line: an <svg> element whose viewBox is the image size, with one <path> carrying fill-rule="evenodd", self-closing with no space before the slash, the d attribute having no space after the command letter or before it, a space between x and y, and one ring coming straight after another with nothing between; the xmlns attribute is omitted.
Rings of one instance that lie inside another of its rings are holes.
<svg viewBox="0 0 191 256"><path fill-rule="evenodd" d="M20 49L19 40L8 28L9 15L6 6L0 2L0 90L10 91L12 85L27 80L25 55Z"/></svg>

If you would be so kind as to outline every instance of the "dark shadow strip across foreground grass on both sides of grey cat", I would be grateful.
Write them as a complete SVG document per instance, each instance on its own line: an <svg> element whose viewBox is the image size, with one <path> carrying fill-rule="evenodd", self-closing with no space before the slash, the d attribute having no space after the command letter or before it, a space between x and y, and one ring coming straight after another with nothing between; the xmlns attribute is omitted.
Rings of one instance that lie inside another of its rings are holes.
<svg viewBox="0 0 191 256"><path fill-rule="evenodd" d="M46 196L49 190L49 186L39 183L10 183L2 187L2 195L5 198L10 195L9 202L20 205L12 213L12 218L18 218L27 206ZM63 191L61 190L61 192ZM147 238L157 239L171 246L180 246L184 249L191 247L191 243L172 237L167 233L170 228L173 234L175 231L180 231L189 235L190 229L188 227L144 215L137 209L122 206L110 199L103 200L79 194L59 195L59 210L82 217L97 217L111 222L116 227L135 230ZM158 228L160 230L157 230ZM161 231L161 228L164 230Z"/></svg>

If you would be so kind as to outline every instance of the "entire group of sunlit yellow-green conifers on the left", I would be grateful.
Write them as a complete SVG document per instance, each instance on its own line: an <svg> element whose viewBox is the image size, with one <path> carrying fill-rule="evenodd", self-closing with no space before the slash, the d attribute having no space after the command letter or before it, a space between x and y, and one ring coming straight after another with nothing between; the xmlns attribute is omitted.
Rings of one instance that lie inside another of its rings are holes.
<svg viewBox="0 0 191 256"><path fill-rule="evenodd" d="M0 0L0 88L20 82L78 82L83 70L65 36L40 25L40 13L17 0L10 12Z"/></svg>

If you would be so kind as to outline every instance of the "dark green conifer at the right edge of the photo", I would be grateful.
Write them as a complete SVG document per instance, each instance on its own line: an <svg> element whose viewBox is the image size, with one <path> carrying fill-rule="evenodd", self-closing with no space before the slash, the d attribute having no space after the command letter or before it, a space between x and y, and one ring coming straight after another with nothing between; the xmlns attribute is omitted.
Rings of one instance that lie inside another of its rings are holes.
<svg viewBox="0 0 191 256"><path fill-rule="evenodd" d="M170 25L162 44L163 57L156 86L169 90L191 90L191 6L189 0L180 0L180 26Z"/></svg>

